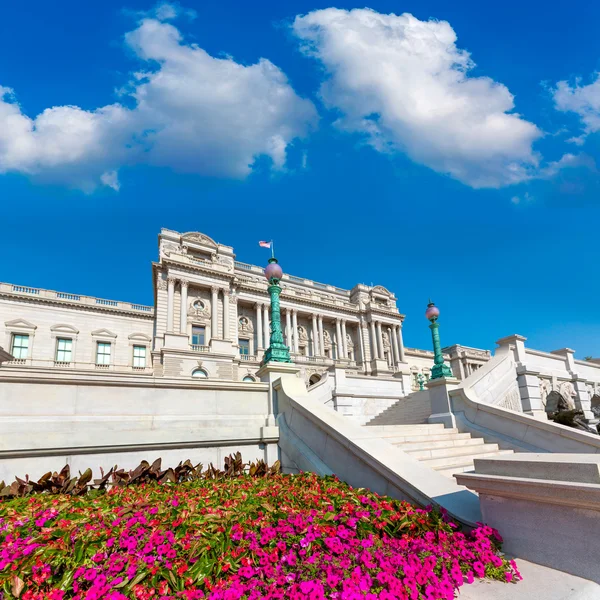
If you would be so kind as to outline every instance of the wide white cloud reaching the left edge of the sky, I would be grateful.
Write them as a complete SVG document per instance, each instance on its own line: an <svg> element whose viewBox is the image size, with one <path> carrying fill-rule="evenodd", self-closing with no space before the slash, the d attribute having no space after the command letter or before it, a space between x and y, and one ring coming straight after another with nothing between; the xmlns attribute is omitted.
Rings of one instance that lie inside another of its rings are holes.
<svg viewBox="0 0 600 600"><path fill-rule="evenodd" d="M157 11L171 18L172 6ZM134 99L131 109L59 106L30 118L0 87L0 173L85 191L101 184L118 190L118 168L138 163L241 178L261 155L283 168L289 144L316 121L313 104L266 59L244 66L212 57L153 18L125 41L148 68L122 91Z"/></svg>

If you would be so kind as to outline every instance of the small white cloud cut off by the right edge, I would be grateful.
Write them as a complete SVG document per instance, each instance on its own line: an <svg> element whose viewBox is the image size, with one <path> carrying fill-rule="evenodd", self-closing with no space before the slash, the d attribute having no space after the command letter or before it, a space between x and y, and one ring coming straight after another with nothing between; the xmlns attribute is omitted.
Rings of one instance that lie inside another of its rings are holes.
<svg viewBox="0 0 600 600"><path fill-rule="evenodd" d="M584 125L584 135L567 141L581 145L588 134L600 130L600 73L595 74L589 85L581 85L579 79L572 86L567 81L559 81L552 95L557 110L575 113Z"/></svg>

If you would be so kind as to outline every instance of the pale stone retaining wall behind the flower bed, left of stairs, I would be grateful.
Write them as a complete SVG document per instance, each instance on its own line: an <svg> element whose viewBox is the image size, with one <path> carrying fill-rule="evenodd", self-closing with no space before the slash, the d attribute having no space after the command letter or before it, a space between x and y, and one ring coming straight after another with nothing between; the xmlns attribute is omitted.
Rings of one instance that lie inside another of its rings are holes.
<svg viewBox="0 0 600 600"><path fill-rule="evenodd" d="M277 442L276 430L263 435L265 384L131 376L110 385L93 375L60 382L54 373L25 380L0 370L0 480L39 478L65 463L99 474L159 456L165 466L186 458L220 466L238 450L266 460Z"/></svg>

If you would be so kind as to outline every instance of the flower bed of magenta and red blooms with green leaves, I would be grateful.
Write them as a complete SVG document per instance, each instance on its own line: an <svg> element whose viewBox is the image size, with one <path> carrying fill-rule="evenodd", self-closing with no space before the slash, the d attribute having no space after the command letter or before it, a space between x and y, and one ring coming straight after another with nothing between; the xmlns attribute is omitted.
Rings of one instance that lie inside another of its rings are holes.
<svg viewBox="0 0 600 600"><path fill-rule="evenodd" d="M499 541L309 473L36 494L0 502L0 600L454 598L520 577Z"/></svg>

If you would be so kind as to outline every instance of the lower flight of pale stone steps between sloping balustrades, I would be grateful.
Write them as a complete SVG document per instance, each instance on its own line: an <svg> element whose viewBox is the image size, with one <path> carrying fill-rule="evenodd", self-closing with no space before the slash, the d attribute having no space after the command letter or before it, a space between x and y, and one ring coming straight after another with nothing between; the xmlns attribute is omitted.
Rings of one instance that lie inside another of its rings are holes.
<svg viewBox="0 0 600 600"><path fill-rule="evenodd" d="M371 423L373 421L375 419ZM368 424L364 427L372 430L375 437L385 439L447 477L471 471L475 458L513 453L513 450L501 450L498 444L488 444L483 438L471 437L470 433L446 429L442 424Z"/></svg>

